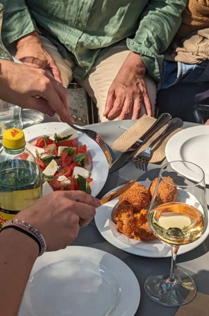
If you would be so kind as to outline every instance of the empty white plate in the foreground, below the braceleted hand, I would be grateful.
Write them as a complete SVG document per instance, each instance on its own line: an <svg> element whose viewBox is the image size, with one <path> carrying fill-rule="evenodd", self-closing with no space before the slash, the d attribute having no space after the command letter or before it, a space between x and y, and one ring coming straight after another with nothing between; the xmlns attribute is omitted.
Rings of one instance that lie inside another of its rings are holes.
<svg viewBox="0 0 209 316"><path fill-rule="evenodd" d="M139 302L139 283L124 262L69 246L36 260L18 316L134 316Z"/></svg>

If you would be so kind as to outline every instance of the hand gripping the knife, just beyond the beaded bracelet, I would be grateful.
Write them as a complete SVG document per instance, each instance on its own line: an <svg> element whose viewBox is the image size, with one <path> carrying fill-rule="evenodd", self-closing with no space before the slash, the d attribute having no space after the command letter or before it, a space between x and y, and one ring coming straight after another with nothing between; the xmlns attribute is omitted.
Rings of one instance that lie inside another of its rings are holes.
<svg viewBox="0 0 209 316"><path fill-rule="evenodd" d="M95 216L99 202L82 191L56 191L40 198L20 211L15 219L37 228L43 235L47 251L66 248Z"/></svg>

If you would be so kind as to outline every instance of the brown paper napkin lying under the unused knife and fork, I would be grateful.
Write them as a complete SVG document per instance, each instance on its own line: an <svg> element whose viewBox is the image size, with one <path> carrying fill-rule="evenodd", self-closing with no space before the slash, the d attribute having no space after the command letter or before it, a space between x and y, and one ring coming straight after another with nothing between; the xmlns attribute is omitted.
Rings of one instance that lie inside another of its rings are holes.
<svg viewBox="0 0 209 316"><path fill-rule="evenodd" d="M132 125L125 133L123 133L114 143L112 143L112 149L119 151L126 151L133 143L137 141L147 130L152 126L152 124L156 121L156 119L151 118L150 116L143 115L138 121ZM165 130L167 125L164 125L157 133L155 133L137 152L138 155L141 151L145 150L154 139L156 139L162 132ZM178 131L181 131L178 128L176 131L172 132L168 135L163 141L159 141L152 148L152 158L150 162L157 163L161 162L165 158L165 146L174 134ZM136 156L135 155L135 156Z"/></svg>

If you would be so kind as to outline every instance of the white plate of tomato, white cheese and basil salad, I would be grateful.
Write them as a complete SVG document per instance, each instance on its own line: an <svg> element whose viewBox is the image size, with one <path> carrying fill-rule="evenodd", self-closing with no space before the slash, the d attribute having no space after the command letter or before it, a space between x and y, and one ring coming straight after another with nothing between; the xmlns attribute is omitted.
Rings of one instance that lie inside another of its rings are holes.
<svg viewBox="0 0 209 316"><path fill-rule="evenodd" d="M109 165L96 142L59 122L30 126L24 133L26 147L36 157L42 173L43 195L63 190L99 194Z"/></svg>

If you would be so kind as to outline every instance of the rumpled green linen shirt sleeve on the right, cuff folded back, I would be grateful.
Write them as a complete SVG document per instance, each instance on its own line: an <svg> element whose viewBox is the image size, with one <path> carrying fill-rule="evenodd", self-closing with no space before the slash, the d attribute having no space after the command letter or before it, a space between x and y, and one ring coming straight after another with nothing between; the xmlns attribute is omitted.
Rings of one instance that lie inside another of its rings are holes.
<svg viewBox="0 0 209 316"><path fill-rule="evenodd" d="M132 52L139 53L149 74L159 81L163 53L181 24L186 0L150 0L141 15L134 39L127 39Z"/></svg>

